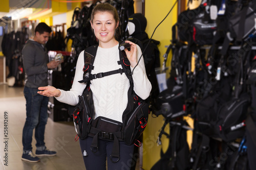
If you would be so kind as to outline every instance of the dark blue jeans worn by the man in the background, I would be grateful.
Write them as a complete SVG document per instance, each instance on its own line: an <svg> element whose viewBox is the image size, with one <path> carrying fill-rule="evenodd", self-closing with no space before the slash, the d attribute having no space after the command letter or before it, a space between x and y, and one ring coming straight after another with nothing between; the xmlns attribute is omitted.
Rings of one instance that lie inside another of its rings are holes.
<svg viewBox="0 0 256 170"><path fill-rule="evenodd" d="M24 88L26 98L26 123L23 129L23 150L32 150L32 135L35 129L36 147L45 146L45 127L47 124L49 98L37 93L37 88Z"/></svg>

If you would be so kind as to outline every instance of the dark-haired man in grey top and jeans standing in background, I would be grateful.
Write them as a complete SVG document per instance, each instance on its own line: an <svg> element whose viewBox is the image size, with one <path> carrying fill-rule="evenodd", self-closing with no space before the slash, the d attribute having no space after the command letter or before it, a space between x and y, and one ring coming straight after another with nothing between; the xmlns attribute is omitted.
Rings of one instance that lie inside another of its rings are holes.
<svg viewBox="0 0 256 170"><path fill-rule="evenodd" d="M23 63L25 70L24 95L26 98L26 123L23 129L22 160L39 162L37 156L54 156L55 151L47 150L44 142L47 124L48 100L46 96L37 94L38 87L48 85L48 69L56 68L59 61L48 62L48 52L45 44L52 29L44 22L38 23L35 36L29 39L23 47ZM35 129L36 152L32 152L32 135Z"/></svg>

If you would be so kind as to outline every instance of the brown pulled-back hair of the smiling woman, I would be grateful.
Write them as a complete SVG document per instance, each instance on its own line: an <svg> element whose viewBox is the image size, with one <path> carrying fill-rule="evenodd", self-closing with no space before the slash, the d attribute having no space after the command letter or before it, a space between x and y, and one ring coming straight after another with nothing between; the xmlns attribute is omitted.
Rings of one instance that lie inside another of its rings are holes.
<svg viewBox="0 0 256 170"><path fill-rule="evenodd" d="M92 14L91 14L91 22L92 23L93 23L94 15L97 12L109 12L113 15L113 17L116 21L116 24L117 24L117 22L120 23L120 19L119 19L118 12L117 12L116 8L108 3L99 3L94 7ZM118 25L118 27L116 28L116 31L115 31L115 39L119 40L120 37L121 37L121 29Z"/></svg>

